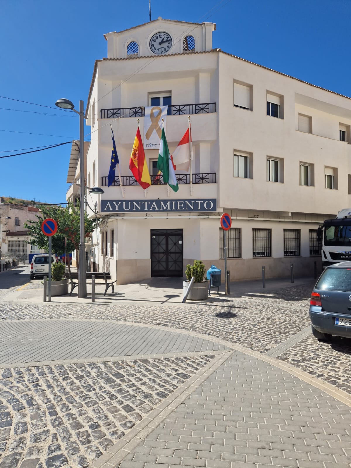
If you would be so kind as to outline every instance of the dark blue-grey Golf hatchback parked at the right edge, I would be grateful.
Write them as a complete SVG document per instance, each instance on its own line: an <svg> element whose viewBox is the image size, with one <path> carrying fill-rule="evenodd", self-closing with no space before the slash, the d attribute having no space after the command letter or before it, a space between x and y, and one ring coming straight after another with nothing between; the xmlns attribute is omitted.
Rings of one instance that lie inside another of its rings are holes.
<svg viewBox="0 0 351 468"><path fill-rule="evenodd" d="M319 340L329 341L332 335L351 338L351 262L323 271L311 294L309 316Z"/></svg>

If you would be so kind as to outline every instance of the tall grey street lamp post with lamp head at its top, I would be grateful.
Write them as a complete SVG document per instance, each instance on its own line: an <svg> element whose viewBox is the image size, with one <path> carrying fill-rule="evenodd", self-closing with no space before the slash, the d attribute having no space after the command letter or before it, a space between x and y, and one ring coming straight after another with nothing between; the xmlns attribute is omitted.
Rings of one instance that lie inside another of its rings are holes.
<svg viewBox="0 0 351 468"><path fill-rule="evenodd" d="M84 232L84 102L79 101L79 112L74 109L73 102L68 99L59 99L55 102L61 109L73 110L79 115L79 156L80 156L80 242L79 242L79 272L78 297L87 297L87 271L85 264L85 232Z"/></svg>

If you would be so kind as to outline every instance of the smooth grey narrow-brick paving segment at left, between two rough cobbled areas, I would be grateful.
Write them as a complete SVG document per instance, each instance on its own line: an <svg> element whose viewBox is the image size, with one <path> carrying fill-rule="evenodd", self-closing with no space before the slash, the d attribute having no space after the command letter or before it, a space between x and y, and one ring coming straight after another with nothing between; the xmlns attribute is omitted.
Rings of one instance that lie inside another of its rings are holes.
<svg viewBox="0 0 351 468"><path fill-rule="evenodd" d="M0 342L0 367L229 349L186 333L87 319L2 321Z"/></svg>

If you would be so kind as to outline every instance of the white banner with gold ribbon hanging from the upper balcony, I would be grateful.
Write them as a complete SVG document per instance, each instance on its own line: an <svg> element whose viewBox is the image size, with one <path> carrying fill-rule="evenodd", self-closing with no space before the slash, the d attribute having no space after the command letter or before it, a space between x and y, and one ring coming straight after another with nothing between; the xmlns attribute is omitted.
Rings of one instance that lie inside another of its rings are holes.
<svg viewBox="0 0 351 468"><path fill-rule="evenodd" d="M166 132L167 109L168 106L149 106L145 108L144 149L160 149L162 119Z"/></svg>

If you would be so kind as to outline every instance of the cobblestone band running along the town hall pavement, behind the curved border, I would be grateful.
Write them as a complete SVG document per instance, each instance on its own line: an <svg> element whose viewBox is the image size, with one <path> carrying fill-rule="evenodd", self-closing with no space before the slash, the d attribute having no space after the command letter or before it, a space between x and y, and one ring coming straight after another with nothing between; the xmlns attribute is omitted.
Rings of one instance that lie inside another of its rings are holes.
<svg viewBox="0 0 351 468"><path fill-rule="evenodd" d="M106 319L194 331L266 352L304 329L308 323L308 300L312 283L223 299L212 304L147 304L114 302L94 304L0 305L0 320L32 318Z"/></svg>

